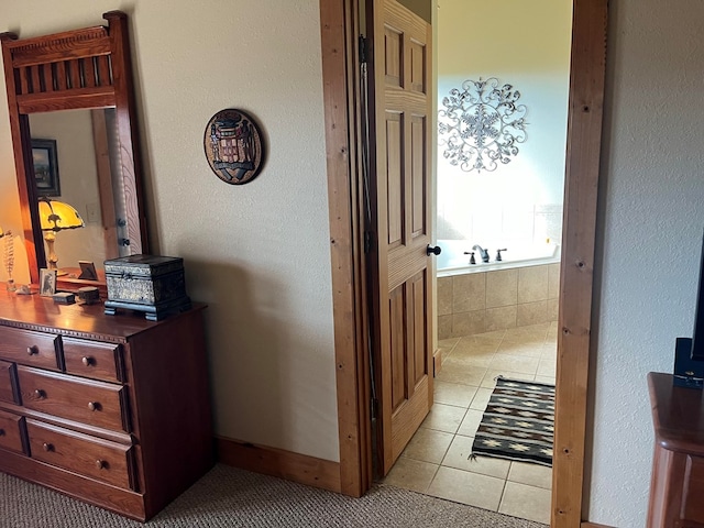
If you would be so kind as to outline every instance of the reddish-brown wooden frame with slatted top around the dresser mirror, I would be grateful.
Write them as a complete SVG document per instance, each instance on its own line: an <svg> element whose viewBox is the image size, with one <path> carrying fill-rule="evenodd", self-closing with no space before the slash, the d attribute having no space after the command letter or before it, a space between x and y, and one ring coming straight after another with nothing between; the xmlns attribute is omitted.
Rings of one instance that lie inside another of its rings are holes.
<svg viewBox="0 0 704 528"><path fill-rule="evenodd" d="M38 283L46 254L36 206L29 120L32 113L114 107L123 189L120 198L127 216L123 245L131 254L147 253L127 14L110 11L102 18L108 26L24 40L18 40L14 33L0 34L22 227L33 284ZM62 277L57 282L61 289L69 290L86 285L96 283ZM105 295L105 282L98 286Z"/></svg>

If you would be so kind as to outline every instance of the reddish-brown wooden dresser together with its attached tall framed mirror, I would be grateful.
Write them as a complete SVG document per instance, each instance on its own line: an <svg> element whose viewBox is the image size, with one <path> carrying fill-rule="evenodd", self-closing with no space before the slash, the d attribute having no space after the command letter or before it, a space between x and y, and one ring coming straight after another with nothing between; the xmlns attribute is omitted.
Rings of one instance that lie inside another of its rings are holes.
<svg viewBox="0 0 704 528"><path fill-rule="evenodd" d="M103 18L0 41L32 283L55 266L58 289L98 286L105 298L103 261L148 245L128 19ZM55 201L79 211L80 229L46 227ZM204 310L148 321L0 287L0 471L154 516L215 461Z"/></svg>

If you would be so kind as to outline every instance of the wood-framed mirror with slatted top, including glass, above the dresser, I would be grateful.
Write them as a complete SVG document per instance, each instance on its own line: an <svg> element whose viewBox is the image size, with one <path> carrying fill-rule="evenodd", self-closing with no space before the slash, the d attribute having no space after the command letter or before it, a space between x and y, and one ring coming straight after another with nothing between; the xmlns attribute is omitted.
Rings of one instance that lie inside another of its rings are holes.
<svg viewBox="0 0 704 528"><path fill-rule="evenodd" d="M127 15L103 18L107 28L0 41L32 282L56 265L59 289L105 296L103 261L147 244ZM73 206L82 227L42 231L40 200Z"/></svg>

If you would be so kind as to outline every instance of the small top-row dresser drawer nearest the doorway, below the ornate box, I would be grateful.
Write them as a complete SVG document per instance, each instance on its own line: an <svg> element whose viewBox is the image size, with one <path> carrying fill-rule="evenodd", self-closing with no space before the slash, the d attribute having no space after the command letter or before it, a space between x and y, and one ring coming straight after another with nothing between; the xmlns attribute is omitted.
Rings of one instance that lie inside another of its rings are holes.
<svg viewBox="0 0 704 528"><path fill-rule="evenodd" d="M122 356L120 345L62 338L66 372L78 376L121 382Z"/></svg>

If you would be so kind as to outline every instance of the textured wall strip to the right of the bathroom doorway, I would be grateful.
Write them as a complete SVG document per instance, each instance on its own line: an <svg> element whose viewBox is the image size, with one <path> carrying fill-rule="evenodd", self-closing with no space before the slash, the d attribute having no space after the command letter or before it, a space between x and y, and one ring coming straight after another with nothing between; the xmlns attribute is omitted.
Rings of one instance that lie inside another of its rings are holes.
<svg viewBox="0 0 704 528"><path fill-rule="evenodd" d="M704 3L610 2L588 519L646 522L646 375L691 336L704 228Z"/></svg>

